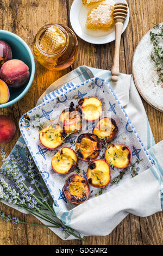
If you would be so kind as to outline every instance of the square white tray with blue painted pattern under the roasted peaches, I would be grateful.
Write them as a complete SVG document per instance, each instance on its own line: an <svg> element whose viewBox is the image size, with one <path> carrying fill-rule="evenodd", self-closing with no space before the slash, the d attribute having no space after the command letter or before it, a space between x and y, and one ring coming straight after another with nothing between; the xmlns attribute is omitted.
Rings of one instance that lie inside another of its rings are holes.
<svg viewBox="0 0 163 256"><path fill-rule="evenodd" d="M118 133L112 144L126 144L130 147L133 153L132 163L136 159L143 160L136 164L136 171L139 173L150 168L153 164L151 156L147 153L139 135L131 124L131 121L124 111L121 102L117 99L109 83L102 78L91 78L81 84L67 83L64 87L47 94L43 98L41 105L36 106L32 110L24 114L20 119L20 131L24 140L27 143L30 153L39 169L43 180L45 181L49 192L51 193L54 202L63 210L71 210L76 205L67 202L62 187L65 180L71 174L61 175L55 173L51 166L52 157L56 150L48 150L44 148L39 142L38 128L46 127L49 124L57 123L59 115L63 109L70 106L73 101L77 105L78 101L83 97L96 96L102 101L103 115L102 117L111 117L116 120L118 125ZM30 119L30 120L29 120ZM75 141L77 137L84 132L92 132L92 126L95 124L85 122L83 130L67 138L64 146L75 148ZM63 145L61 147L64 147ZM59 147L58 149L60 149ZM103 151L99 158L103 157ZM78 161L80 174L86 176L87 162ZM131 179L131 168L128 167L123 179L118 184L109 184L103 190L103 193L109 192L115 186L121 185L128 179ZM114 179L120 174L120 169L111 169L111 179ZM99 196L99 188L90 186L89 200L95 196Z"/></svg>

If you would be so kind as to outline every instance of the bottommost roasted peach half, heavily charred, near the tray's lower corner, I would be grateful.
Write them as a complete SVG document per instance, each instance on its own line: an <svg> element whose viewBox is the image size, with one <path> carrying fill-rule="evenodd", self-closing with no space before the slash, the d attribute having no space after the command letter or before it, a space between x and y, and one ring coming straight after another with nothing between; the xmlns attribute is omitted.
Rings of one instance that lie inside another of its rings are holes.
<svg viewBox="0 0 163 256"><path fill-rule="evenodd" d="M90 188L84 177L73 174L65 181L62 191L70 203L82 204L89 198Z"/></svg>

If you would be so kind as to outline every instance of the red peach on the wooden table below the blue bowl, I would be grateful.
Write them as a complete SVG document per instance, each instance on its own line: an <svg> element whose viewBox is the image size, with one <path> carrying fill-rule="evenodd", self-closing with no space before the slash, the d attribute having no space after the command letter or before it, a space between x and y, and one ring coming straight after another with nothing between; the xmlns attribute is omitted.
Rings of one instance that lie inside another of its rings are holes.
<svg viewBox="0 0 163 256"><path fill-rule="evenodd" d="M0 143L7 143L14 137L16 126L7 115L0 115Z"/></svg>

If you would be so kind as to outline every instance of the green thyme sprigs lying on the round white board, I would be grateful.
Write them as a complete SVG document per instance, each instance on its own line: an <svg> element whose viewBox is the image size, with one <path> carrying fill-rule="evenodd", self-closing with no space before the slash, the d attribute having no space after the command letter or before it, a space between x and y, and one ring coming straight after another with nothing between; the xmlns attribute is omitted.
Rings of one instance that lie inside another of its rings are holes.
<svg viewBox="0 0 163 256"><path fill-rule="evenodd" d="M163 48L160 44L160 39L163 39L163 25L156 24L153 29L160 29L158 33L150 32L150 38L153 42L153 52L151 53L151 59L155 63L156 71L158 72L158 83L163 82Z"/></svg>

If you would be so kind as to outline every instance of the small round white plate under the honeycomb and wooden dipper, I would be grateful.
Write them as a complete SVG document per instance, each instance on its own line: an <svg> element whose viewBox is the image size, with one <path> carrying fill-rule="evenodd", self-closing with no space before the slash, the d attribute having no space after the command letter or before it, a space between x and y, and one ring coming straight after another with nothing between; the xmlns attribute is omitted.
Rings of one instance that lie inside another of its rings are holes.
<svg viewBox="0 0 163 256"><path fill-rule="evenodd" d="M115 3L123 2L123 3L127 4L126 0L121 0L121 1L114 0L114 2ZM107 44L108 42L114 41L115 40L115 31L109 35L105 35L105 36L101 36L101 37L90 36L82 31L82 27L80 26L80 23L79 23L79 13L80 13L82 4L83 4L82 0L74 0L71 10L70 10L70 22L71 22L71 26L72 26L74 32L80 38L82 38L84 41L90 42L91 44L101 45L101 44ZM122 33L127 28L128 22L129 22L129 9L128 9L128 15L127 15L126 21L124 21Z"/></svg>

